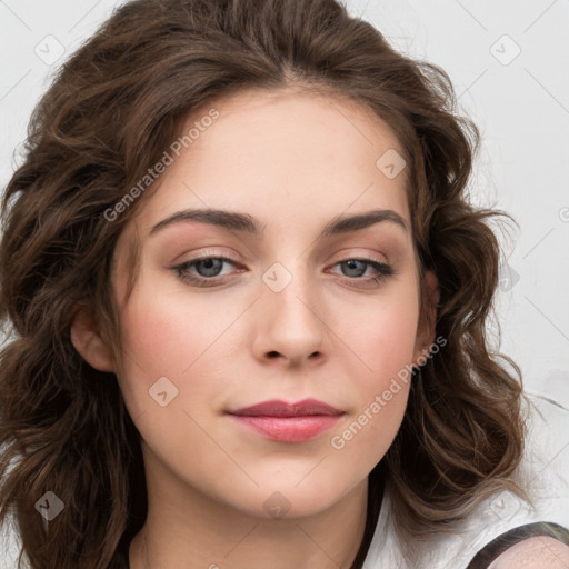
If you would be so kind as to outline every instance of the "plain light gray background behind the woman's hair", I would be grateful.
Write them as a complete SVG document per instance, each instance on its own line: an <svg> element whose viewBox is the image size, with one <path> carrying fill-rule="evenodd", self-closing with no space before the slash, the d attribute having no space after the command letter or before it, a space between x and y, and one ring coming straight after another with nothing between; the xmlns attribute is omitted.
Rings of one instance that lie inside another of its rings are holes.
<svg viewBox="0 0 569 569"><path fill-rule="evenodd" d="M1 188L51 73L120 3L0 0ZM501 238L500 349L521 366L528 391L569 407L569 0L347 6L399 50L441 66L479 126L476 203L520 226Z"/></svg>

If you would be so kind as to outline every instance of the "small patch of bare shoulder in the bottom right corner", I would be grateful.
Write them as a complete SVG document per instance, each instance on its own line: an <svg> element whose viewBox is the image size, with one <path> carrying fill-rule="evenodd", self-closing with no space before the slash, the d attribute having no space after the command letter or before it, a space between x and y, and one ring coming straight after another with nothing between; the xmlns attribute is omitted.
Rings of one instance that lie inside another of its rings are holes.
<svg viewBox="0 0 569 569"><path fill-rule="evenodd" d="M558 539L539 536L507 549L488 569L568 569L569 546Z"/></svg>

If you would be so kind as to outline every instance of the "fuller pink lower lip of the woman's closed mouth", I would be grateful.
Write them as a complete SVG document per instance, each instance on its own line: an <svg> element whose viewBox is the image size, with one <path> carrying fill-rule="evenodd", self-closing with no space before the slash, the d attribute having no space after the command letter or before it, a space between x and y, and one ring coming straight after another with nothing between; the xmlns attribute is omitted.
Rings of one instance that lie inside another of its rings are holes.
<svg viewBox="0 0 569 569"><path fill-rule="evenodd" d="M279 442L303 442L331 429L339 415L311 415L305 417L250 417L231 415L239 425Z"/></svg>

